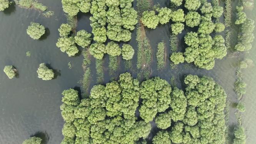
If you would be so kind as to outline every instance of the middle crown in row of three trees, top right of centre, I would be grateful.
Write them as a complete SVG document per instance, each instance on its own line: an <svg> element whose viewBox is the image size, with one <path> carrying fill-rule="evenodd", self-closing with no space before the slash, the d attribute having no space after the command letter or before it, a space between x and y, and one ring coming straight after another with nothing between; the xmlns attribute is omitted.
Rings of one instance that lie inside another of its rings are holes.
<svg viewBox="0 0 256 144"><path fill-rule="evenodd" d="M158 10L159 22L163 25L170 21L171 18L171 9L170 8L160 8Z"/></svg>

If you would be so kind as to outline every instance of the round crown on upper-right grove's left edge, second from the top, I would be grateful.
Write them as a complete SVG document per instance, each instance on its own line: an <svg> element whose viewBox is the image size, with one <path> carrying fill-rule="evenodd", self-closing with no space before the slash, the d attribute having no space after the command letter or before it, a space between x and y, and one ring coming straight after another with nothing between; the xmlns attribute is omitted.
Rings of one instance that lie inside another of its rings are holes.
<svg viewBox="0 0 256 144"><path fill-rule="evenodd" d="M185 16L186 25L193 28L198 26L201 22L201 15L198 12L188 12Z"/></svg>

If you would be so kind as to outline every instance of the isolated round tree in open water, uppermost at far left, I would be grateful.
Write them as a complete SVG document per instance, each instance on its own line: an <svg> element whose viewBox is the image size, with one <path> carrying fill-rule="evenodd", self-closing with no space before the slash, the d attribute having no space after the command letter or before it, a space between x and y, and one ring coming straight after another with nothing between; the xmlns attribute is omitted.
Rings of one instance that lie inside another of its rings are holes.
<svg viewBox="0 0 256 144"><path fill-rule="evenodd" d="M45 34L45 27L39 23L31 22L30 26L28 26L27 34L34 40L38 40Z"/></svg>

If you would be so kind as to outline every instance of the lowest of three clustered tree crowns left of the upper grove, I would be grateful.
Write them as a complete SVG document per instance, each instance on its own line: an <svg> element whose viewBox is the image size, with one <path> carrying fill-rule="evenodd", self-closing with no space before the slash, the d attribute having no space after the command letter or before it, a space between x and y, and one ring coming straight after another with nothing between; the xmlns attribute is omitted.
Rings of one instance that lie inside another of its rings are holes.
<svg viewBox="0 0 256 144"><path fill-rule="evenodd" d="M78 49L75 45L75 38L73 36L59 38L56 46L60 48L60 51L66 52L68 56L74 56L78 53Z"/></svg>

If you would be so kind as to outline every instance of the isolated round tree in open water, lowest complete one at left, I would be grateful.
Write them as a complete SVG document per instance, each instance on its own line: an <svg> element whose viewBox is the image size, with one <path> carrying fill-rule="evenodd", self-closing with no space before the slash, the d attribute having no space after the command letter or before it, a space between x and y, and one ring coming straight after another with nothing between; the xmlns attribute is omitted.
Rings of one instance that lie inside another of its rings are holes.
<svg viewBox="0 0 256 144"><path fill-rule="evenodd" d="M43 80L53 79L54 73L53 70L49 69L45 63L41 63L39 68L37 69L38 78L42 78Z"/></svg>

